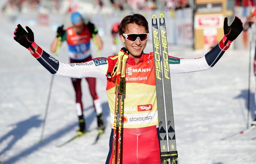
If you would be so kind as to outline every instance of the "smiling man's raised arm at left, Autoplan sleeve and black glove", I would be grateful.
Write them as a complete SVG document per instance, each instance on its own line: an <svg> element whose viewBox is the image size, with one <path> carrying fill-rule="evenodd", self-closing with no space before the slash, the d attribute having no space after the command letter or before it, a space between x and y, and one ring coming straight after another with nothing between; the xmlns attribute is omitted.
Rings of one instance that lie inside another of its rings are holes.
<svg viewBox="0 0 256 164"><path fill-rule="evenodd" d="M107 58L96 58L85 63L60 63L36 45L33 31L27 26L26 29L28 32L18 24L14 31L14 40L27 48L50 73L71 78L99 78L106 84Z"/></svg>

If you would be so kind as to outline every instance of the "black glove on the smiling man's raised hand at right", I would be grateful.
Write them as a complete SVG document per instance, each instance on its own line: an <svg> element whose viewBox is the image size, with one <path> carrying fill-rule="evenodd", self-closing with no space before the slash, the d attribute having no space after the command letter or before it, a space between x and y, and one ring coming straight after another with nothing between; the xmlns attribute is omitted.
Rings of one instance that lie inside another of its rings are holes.
<svg viewBox="0 0 256 164"><path fill-rule="evenodd" d="M226 36L224 45L226 45L227 43L231 43L233 40L235 40L236 37L238 37L238 35L242 32L242 30L243 30L242 21L240 18L235 16L235 19L232 22L232 24L230 26L228 26L227 25L227 17L226 17L224 19L223 29L224 29L224 40L225 40L225 36Z"/></svg>

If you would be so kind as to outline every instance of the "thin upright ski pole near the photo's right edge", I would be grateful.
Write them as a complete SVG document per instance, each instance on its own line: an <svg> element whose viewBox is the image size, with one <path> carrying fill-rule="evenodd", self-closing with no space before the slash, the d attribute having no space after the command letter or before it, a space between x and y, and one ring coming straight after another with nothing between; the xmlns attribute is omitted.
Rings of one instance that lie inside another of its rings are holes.
<svg viewBox="0 0 256 164"><path fill-rule="evenodd" d="M251 23L249 22L249 28L251 27ZM247 112L247 128L249 127L249 116L250 116L250 82L251 82L251 28L249 29L249 71L248 71L248 100L247 100L247 107L248 107L248 112Z"/></svg>

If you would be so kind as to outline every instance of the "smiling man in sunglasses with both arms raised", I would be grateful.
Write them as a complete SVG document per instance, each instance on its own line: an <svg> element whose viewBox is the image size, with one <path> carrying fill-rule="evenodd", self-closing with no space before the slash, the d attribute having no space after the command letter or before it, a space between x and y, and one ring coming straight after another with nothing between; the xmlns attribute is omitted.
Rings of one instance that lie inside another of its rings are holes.
<svg viewBox="0 0 256 164"><path fill-rule="evenodd" d="M14 31L14 39L27 48L30 53L49 72L56 76L85 78L95 77L102 80L106 87L110 107L111 127L110 150L106 164L113 159L113 123L115 110L116 63L118 55L108 58L96 58L85 64L59 63L34 42L34 34L29 27L27 31L18 24ZM224 19L224 36L217 46L200 58L175 58L169 56L170 74L188 73L211 69L229 48L230 43L241 33L243 27L238 17L228 26ZM119 28L120 40L130 52L126 63L126 98L123 111L122 164L160 164L160 145L158 139L158 114L155 87L154 53L145 53L149 37L146 18L140 14L125 16ZM175 62L172 62L175 61ZM108 76L110 75L110 76ZM147 106L143 110L140 106Z"/></svg>

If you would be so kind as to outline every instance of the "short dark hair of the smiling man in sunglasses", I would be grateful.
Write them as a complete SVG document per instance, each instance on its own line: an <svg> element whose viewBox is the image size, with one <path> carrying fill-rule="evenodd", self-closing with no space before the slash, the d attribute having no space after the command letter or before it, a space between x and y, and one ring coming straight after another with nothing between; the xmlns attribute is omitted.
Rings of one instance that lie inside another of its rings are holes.
<svg viewBox="0 0 256 164"><path fill-rule="evenodd" d="M135 23L139 26L145 27L146 33L149 33L147 19L141 14L131 13L131 15L127 15L122 19L120 23L120 28L119 28L120 35L125 33L125 30L127 29L127 25L130 23Z"/></svg>

